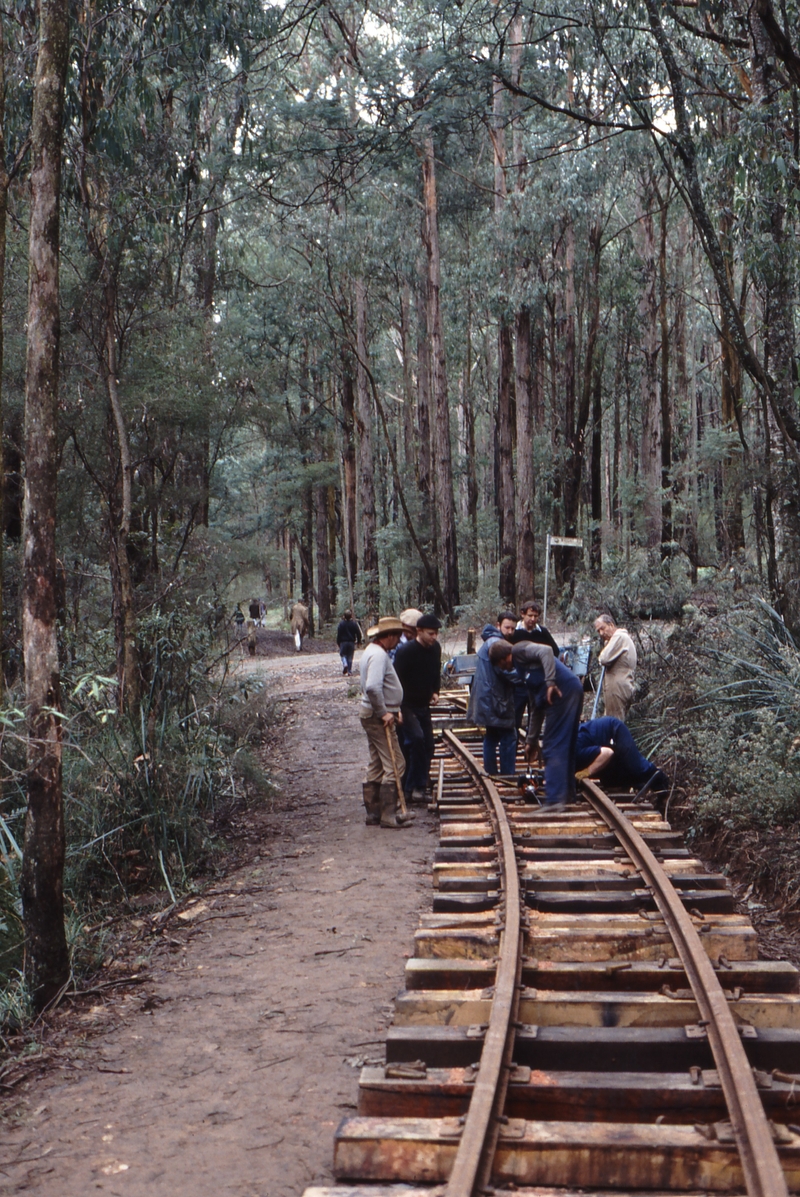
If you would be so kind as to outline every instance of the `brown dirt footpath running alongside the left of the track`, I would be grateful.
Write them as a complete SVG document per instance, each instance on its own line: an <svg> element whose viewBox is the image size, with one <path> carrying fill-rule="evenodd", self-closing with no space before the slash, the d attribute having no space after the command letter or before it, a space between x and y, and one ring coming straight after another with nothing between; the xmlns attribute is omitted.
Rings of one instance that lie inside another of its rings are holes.
<svg viewBox="0 0 800 1197"><path fill-rule="evenodd" d="M365 827L365 742L335 655L243 668L295 697L257 855L170 923L150 982L62 1015L68 1047L0 1131L0 1193L295 1197L331 1178L430 904L432 821Z"/></svg>

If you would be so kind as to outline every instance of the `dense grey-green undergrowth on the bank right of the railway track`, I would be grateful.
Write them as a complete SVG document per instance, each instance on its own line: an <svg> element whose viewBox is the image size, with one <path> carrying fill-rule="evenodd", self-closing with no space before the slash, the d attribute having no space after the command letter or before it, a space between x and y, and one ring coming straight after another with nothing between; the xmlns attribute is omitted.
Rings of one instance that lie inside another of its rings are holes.
<svg viewBox="0 0 800 1197"><path fill-rule="evenodd" d="M631 730L686 795L690 838L784 899L800 834L800 650L758 597L717 596L654 636Z"/></svg>

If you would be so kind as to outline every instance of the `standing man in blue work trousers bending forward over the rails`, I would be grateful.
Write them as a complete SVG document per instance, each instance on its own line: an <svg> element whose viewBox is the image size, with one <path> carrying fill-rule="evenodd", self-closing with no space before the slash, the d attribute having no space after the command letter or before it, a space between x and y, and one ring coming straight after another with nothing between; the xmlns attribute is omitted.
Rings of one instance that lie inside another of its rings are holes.
<svg viewBox="0 0 800 1197"><path fill-rule="evenodd" d="M545 761L546 801L543 814L563 810L575 798L575 752L583 709L583 686L571 669L557 661L549 644L515 644L510 660L528 687L528 760ZM537 814L539 812L535 812Z"/></svg>

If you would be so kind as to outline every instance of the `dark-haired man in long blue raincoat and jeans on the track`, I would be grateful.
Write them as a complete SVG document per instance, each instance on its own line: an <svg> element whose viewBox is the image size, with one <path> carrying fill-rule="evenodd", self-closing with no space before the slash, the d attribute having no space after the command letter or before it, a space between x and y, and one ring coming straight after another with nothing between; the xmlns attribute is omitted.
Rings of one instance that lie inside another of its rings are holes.
<svg viewBox="0 0 800 1197"><path fill-rule="evenodd" d="M486 628L484 628L484 632ZM509 644L498 628L478 649L475 676L469 689L467 718L484 729L484 768L497 773L516 772L516 718L514 675L499 662L510 667Z"/></svg>

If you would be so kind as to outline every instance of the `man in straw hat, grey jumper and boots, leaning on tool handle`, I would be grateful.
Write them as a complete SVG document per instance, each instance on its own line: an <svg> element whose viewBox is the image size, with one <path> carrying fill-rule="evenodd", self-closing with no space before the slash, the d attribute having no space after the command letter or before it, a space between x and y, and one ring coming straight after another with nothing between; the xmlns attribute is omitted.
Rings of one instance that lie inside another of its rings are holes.
<svg viewBox="0 0 800 1197"><path fill-rule="evenodd" d="M378 619L368 628L371 643L360 661L360 721L369 745L369 765L364 782L364 807L370 826L402 827L405 819L398 814L395 768L400 761L400 745L395 724L402 718L402 686L389 650L400 639L400 620L393 615Z"/></svg>

